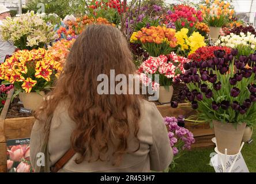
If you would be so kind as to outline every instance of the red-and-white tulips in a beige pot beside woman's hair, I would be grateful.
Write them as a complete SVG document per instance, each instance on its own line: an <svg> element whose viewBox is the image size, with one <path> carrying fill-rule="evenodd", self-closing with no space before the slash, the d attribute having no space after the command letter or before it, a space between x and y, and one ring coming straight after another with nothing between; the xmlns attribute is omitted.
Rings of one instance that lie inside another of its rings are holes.
<svg viewBox="0 0 256 184"><path fill-rule="evenodd" d="M189 62L187 58L172 52L167 56L149 57L141 64L138 72L152 74L152 81L155 80L154 74L159 74L159 102L170 103L174 91L172 83L176 77L185 72L183 63L186 62Z"/></svg>

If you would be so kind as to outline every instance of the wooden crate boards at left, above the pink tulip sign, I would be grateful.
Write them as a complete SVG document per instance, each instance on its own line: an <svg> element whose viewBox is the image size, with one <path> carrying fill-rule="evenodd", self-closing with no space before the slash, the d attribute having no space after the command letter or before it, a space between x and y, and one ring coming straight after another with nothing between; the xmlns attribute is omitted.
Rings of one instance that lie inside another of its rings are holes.
<svg viewBox="0 0 256 184"><path fill-rule="evenodd" d="M33 123L35 122L34 117L5 118L12 95L13 90L8 94L0 115L0 173L6 172L6 140L30 137Z"/></svg>

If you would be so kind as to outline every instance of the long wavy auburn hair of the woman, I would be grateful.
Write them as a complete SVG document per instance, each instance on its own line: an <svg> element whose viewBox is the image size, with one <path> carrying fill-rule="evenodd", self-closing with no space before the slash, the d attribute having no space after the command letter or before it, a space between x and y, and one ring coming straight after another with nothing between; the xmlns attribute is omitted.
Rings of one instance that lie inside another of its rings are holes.
<svg viewBox="0 0 256 184"><path fill-rule="evenodd" d="M69 116L76 122L71 146L81 154L77 164L88 158L92 161L95 156L96 160L104 160L112 145L114 164L118 165L128 152L129 135L133 134L138 141L140 95L97 93L97 76L106 74L110 78L112 69L115 75L125 74L127 78L135 73L125 38L113 26L89 25L73 44L54 90L46 97L48 100L35 113L39 122L46 122L40 115L49 117L60 102L68 102Z"/></svg>

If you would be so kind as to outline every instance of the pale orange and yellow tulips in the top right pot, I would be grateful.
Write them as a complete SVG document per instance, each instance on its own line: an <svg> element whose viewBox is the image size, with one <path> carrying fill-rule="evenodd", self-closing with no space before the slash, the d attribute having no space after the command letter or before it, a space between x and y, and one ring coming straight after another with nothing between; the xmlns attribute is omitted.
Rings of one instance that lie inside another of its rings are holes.
<svg viewBox="0 0 256 184"><path fill-rule="evenodd" d="M200 9L204 22L208 26L218 28L227 24L235 13L229 2L219 0L205 0L204 4L200 5Z"/></svg>

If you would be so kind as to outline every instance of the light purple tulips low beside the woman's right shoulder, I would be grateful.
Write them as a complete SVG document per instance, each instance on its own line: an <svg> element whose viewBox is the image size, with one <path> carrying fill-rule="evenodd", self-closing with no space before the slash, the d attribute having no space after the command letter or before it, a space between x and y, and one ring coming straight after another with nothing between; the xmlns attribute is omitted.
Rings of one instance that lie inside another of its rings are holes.
<svg viewBox="0 0 256 184"><path fill-rule="evenodd" d="M191 144L195 143L195 139L193 133L188 129L179 127L177 118L165 117L164 122L168 130L170 145L174 152L174 159L169 167L169 170L172 170L176 166L176 159L184 155L186 150L190 150Z"/></svg>

